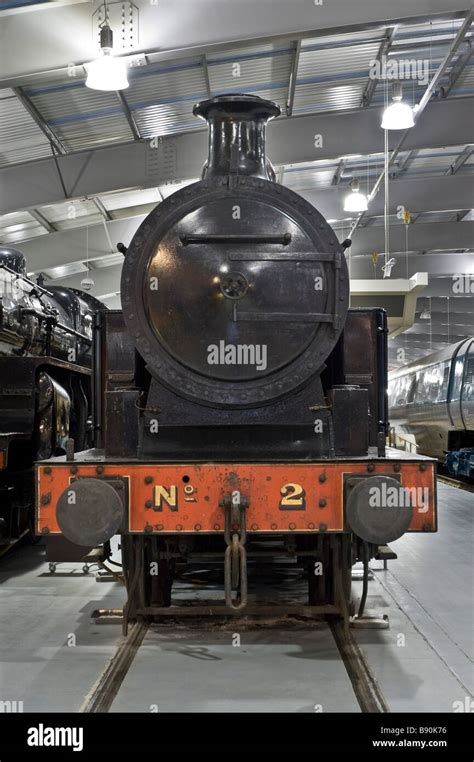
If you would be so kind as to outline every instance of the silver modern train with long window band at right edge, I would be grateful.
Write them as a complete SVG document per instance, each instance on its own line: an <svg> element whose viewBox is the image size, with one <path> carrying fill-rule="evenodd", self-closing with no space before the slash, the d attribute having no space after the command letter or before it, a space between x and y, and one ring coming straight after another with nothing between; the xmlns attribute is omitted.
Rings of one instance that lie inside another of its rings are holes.
<svg viewBox="0 0 474 762"><path fill-rule="evenodd" d="M474 339L394 371L388 390L395 435L453 475L473 478Z"/></svg>

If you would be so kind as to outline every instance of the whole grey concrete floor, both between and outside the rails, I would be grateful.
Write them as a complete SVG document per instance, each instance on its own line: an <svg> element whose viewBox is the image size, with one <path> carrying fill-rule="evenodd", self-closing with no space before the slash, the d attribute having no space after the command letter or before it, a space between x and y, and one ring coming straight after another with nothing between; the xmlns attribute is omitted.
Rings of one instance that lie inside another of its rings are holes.
<svg viewBox="0 0 474 762"><path fill-rule="evenodd" d="M391 626L355 634L392 711L453 711L472 693L473 504L471 493L440 484L439 533L393 543L399 559L370 583L368 612L388 613ZM120 635L90 614L122 606L124 590L83 575L82 564L51 575L43 552L24 546L0 563L0 701L23 701L25 712L78 711ZM298 596L300 587L289 580L282 596ZM354 588L357 595L361 583ZM168 625L147 635L112 711L313 712L315 705L358 710L324 625Z"/></svg>

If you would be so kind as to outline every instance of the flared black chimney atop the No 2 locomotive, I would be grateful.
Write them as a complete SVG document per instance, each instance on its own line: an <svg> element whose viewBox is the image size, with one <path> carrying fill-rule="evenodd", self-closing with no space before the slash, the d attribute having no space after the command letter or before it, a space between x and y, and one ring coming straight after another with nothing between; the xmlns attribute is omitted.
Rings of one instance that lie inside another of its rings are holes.
<svg viewBox="0 0 474 762"><path fill-rule="evenodd" d="M209 156L203 178L252 175L275 180L265 154L265 127L280 113L276 103L257 95L218 95L194 106L193 114L209 126Z"/></svg>

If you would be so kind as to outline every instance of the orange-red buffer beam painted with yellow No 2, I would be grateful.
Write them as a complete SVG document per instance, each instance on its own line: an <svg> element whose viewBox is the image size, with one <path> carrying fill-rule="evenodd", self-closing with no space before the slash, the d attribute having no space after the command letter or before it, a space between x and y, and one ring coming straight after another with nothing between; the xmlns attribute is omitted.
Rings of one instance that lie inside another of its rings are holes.
<svg viewBox="0 0 474 762"><path fill-rule="evenodd" d="M243 555L243 526L247 534L355 532L348 523L348 501L354 479L367 478L373 489L366 490L366 498L371 499L374 492L375 508L390 516L405 510L403 501L408 496L412 513L407 531L435 532L435 461L396 450L388 449L387 454L385 458L238 464L105 461L97 457L97 451L93 456L78 453L74 461L54 458L36 466L36 529L43 535L61 533L58 506L74 499L67 491L83 479L88 484L95 479L107 481L111 489L118 482L123 484L120 533L132 535L224 535L229 516L225 506L238 493L247 503L245 508L240 503L241 518L232 517L227 538L231 532L240 536ZM390 478L377 481L382 476ZM92 493L91 489L91 501L96 499ZM78 510L84 500L82 494ZM358 504L352 513L357 514L357 526L363 527L366 518ZM375 514L370 520L377 518ZM227 546L232 547L232 538Z"/></svg>

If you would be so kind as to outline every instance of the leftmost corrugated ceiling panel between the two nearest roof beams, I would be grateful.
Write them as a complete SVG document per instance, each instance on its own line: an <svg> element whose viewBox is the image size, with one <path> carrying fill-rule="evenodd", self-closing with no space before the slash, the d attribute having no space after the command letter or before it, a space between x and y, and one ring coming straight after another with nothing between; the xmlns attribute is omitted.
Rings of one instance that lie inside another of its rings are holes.
<svg viewBox="0 0 474 762"><path fill-rule="evenodd" d="M51 155L46 136L11 90L0 98L0 166Z"/></svg>

